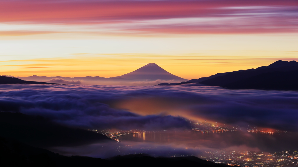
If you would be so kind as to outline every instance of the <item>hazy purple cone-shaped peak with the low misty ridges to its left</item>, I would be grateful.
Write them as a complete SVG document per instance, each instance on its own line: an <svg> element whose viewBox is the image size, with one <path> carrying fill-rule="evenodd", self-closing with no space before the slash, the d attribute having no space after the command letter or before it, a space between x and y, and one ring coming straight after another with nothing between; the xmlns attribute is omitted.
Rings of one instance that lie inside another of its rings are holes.
<svg viewBox="0 0 298 167"><path fill-rule="evenodd" d="M6 77L13 77L3 75ZM46 77L32 75L29 77L16 77L21 80L60 83L60 84L111 84L111 85L155 85L161 82L182 82L187 79L173 75L162 69L155 63L149 63L131 73L127 73L117 77ZM0 78L1 79L1 78ZM34 84L34 83L32 83Z"/></svg>

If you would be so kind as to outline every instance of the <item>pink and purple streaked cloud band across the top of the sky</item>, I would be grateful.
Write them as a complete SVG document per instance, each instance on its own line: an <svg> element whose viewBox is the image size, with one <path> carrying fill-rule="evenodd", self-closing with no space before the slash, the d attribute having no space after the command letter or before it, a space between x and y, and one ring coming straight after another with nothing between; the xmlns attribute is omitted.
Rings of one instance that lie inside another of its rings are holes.
<svg viewBox="0 0 298 167"><path fill-rule="evenodd" d="M1 1L2 35L247 34L298 32L298 3L286 1ZM6 27L6 28L5 28ZM14 31L11 31L14 29ZM4 33L6 31L6 33Z"/></svg>

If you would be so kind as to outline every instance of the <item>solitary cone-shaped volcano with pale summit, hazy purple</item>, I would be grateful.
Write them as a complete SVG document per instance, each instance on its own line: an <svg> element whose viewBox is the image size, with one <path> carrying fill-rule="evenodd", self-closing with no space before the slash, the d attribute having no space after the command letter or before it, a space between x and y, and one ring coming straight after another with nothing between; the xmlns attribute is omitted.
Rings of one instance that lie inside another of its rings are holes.
<svg viewBox="0 0 298 167"><path fill-rule="evenodd" d="M121 76L118 76L124 79L132 79L132 80L149 80L149 81L155 81L155 80L175 80L175 81L187 81L187 79L178 77L176 75L173 75L166 70L162 69L155 63L149 63L131 73L127 73ZM114 78L118 78L114 77Z"/></svg>

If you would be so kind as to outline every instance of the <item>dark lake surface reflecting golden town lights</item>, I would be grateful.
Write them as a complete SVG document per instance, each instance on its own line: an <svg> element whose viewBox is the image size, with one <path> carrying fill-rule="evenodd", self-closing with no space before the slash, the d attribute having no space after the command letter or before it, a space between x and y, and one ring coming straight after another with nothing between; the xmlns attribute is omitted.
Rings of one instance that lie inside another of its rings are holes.
<svg viewBox="0 0 298 167"><path fill-rule="evenodd" d="M252 150L283 151L298 149L298 135L252 132L151 131L119 136L120 141L184 145L190 148L227 149L249 147Z"/></svg>

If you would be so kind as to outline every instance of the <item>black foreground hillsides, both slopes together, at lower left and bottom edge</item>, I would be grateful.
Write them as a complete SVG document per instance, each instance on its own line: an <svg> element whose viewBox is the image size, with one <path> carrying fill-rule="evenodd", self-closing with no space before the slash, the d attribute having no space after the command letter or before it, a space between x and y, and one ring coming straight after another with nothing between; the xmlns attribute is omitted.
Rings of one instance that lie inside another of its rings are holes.
<svg viewBox="0 0 298 167"><path fill-rule="evenodd" d="M63 156L38 147L78 146L98 142L116 142L102 134L63 127L41 116L0 112L1 167L93 167L123 166L200 166L223 167L198 157L151 157L145 154L116 156L109 159ZM107 143L108 144L108 143Z"/></svg>

